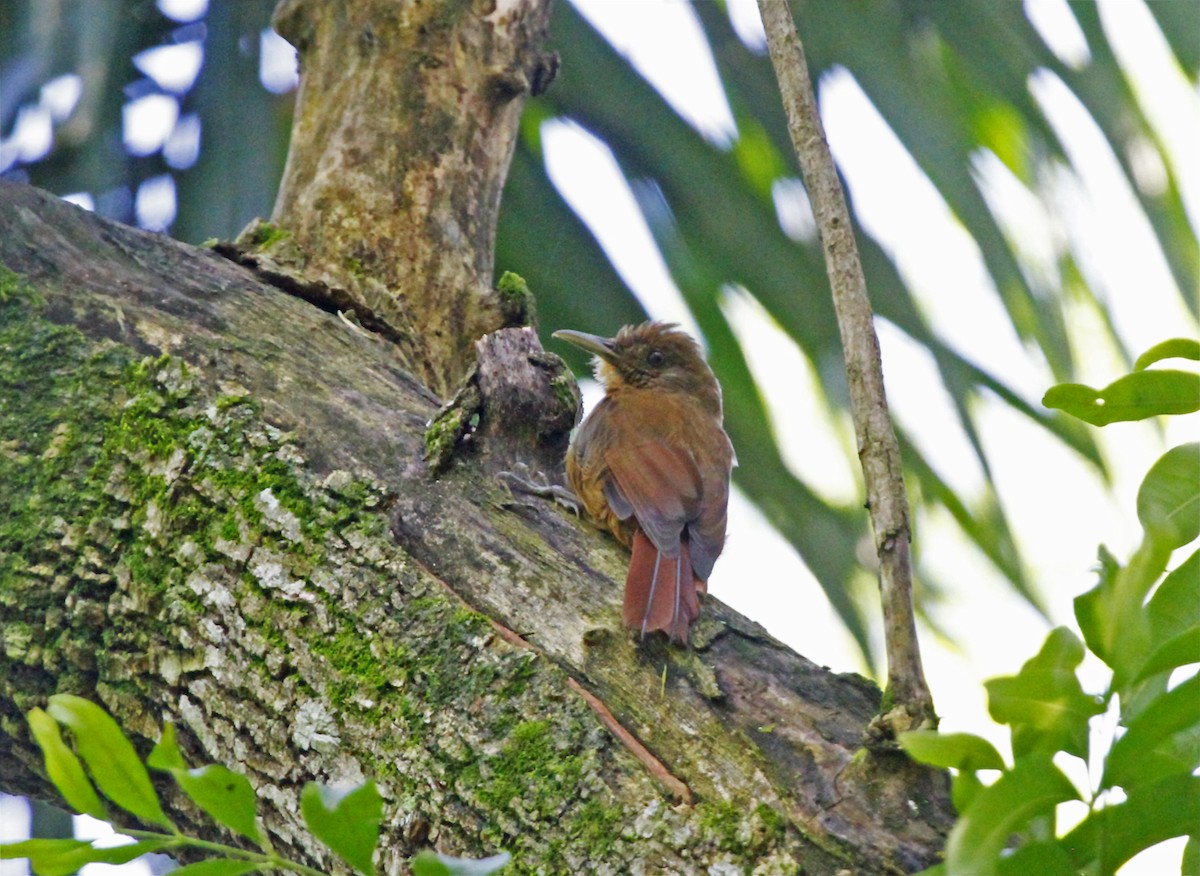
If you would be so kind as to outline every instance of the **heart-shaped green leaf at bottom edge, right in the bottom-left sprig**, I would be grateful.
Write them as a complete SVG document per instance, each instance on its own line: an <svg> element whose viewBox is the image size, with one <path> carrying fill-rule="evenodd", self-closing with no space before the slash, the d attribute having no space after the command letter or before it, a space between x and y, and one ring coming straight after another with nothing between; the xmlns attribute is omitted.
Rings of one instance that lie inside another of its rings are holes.
<svg viewBox="0 0 1200 876"><path fill-rule="evenodd" d="M373 781L332 788L310 781L300 792L300 811L313 836L361 874L374 872L383 800Z"/></svg>

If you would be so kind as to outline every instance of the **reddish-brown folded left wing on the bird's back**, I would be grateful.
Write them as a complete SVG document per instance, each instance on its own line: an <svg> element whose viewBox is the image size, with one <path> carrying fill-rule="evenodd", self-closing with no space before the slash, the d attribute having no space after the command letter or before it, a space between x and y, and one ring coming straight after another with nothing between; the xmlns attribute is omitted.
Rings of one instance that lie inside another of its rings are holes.
<svg viewBox="0 0 1200 876"><path fill-rule="evenodd" d="M696 461L682 448L650 439L614 444L605 463L610 472L605 496L612 510L622 517L631 511L659 551L678 557L683 528L698 512Z"/></svg>

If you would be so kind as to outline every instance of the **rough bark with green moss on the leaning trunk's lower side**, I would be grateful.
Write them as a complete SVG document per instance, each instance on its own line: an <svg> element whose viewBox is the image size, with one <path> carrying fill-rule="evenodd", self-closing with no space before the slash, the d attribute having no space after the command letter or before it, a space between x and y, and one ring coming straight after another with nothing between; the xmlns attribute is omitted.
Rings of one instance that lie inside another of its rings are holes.
<svg viewBox="0 0 1200 876"><path fill-rule="evenodd" d="M313 472L203 366L40 308L0 275L7 728L73 691L146 738L175 720L256 786L352 762L384 790L397 854L433 840L508 848L514 874L623 874L690 848L794 871L768 814L674 809L557 666L414 568L380 485Z"/></svg>

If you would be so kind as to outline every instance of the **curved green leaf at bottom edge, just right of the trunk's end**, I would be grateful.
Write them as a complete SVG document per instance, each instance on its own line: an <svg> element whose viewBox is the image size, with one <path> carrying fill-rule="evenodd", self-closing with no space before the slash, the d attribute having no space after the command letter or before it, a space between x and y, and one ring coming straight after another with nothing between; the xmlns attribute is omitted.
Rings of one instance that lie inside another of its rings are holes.
<svg viewBox="0 0 1200 876"><path fill-rule="evenodd" d="M946 869L952 874L991 876L1000 852L1030 821L1076 799L1074 786L1048 754L1019 757L1016 766L984 788L959 816L946 842Z"/></svg>

